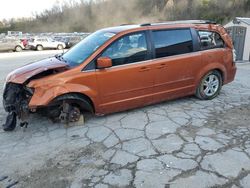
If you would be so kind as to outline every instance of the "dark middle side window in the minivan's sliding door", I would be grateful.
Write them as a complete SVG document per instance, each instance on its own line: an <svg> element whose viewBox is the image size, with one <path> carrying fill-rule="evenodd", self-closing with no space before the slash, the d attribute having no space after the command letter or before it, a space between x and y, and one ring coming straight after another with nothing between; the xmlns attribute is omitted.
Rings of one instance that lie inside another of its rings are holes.
<svg viewBox="0 0 250 188"><path fill-rule="evenodd" d="M189 29L153 31L153 39L156 58L193 51L193 41Z"/></svg>

